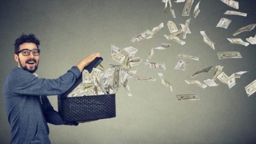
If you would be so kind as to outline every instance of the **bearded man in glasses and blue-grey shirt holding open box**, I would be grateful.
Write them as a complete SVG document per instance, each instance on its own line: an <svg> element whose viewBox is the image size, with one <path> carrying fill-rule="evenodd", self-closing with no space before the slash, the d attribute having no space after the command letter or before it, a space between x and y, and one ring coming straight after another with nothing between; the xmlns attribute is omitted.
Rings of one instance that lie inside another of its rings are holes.
<svg viewBox="0 0 256 144"><path fill-rule="evenodd" d="M11 125L11 143L49 144L51 141L47 122L54 125L78 123L64 122L52 108L47 95L65 93L75 83L83 68L100 54L90 54L58 79L44 79L34 74L40 57L40 41L35 35L20 35L14 45L14 60L18 66L11 70L3 85L6 113Z"/></svg>

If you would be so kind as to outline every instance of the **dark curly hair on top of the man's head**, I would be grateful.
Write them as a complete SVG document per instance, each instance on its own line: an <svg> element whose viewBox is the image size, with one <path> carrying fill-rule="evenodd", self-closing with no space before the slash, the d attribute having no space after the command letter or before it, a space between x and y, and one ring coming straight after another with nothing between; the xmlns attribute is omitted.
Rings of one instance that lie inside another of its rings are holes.
<svg viewBox="0 0 256 144"><path fill-rule="evenodd" d="M20 37L15 40L14 53L17 54L17 52L19 52L20 45L26 42L34 43L37 49L38 49L38 45L40 45L40 41L36 38L36 36L33 33L29 33L29 35L22 33Z"/></svg>

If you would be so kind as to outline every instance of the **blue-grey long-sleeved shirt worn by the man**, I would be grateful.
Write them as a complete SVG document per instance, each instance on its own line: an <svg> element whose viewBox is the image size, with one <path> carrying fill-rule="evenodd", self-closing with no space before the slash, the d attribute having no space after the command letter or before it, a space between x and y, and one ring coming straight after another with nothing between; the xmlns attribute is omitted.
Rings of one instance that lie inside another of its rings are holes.
<svg viewBox="0 0 256 144"><path fill-rule="evenodd" d="M8 74L3 85L4 103L11 125L11 143L51 143L47 122L55 125L77 125L64 122L46 95L65 93L81 75L74 66L58 79L38 78L20 67Z"/></svg>

